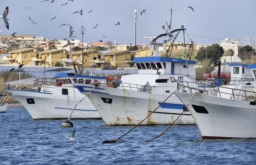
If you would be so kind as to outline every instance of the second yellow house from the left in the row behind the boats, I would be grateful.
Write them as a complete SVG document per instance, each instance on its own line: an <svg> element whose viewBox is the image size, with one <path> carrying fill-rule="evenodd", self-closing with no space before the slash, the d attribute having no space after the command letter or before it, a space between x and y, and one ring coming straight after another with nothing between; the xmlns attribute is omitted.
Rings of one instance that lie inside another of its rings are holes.
<svg viewBox="0 0 256 165"><path fill-rule="evenodd" d="M45 64L48 67L54 67L56 62L61 62L64 64L64 67L67 67L67 63L64 61L69 58L68 54L71 53L66 49L50 49L43 52L39 52L36 57L33 57L32 60L35 61L35 65L43 65L44 66L44 58Z"/></svg>

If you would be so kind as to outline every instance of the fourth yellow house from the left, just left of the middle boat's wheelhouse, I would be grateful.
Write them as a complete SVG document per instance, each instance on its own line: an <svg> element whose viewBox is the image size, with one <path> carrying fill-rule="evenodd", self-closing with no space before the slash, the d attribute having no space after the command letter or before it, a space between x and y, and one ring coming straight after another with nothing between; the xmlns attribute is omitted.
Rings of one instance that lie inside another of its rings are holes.
<svg viewBox="0 0 256 165"><path fill-rule="evenodd" d="M117 66L117 67L134 67L132 62L136 54L130 50L116 50L100 54L100 58L96 63L101 67Z"/></svg>

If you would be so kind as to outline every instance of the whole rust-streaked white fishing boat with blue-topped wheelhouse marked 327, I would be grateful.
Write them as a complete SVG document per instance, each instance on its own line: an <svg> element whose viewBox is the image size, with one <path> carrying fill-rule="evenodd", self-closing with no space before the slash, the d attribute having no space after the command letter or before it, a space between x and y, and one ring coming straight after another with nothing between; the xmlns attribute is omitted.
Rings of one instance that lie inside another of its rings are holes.
<svg viewBox="0 0 256 165"><path fill-rule="evenodd" d="M155 48L152 56L134 58L138 74L123 75L121 81L108 80L92 91L93 84L73 84L84 95L91 91L88 98L107 125L138 124L158 106L142 124L172 124L185 108L175 95L163 101L177 89L177 81L195 80L196 62L160 56L162 44L156 43L157 38L150 40ZM195 121L187 112L178 124Z"/></svg>

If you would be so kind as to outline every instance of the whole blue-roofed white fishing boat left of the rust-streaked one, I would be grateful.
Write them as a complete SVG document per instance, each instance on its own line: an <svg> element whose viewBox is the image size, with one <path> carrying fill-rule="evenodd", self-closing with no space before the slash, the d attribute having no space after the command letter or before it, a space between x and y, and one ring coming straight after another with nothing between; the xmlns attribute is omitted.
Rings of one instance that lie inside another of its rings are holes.
<svg viewBox="0 0 256 165"><path fill-rule="evenodd" d="M53 79L37 78L32 87L8 84L10 95L20 101L33 119L67 119L71 111L85 96L72 83L90 82L92 76L74 73L57 73ZM75 77L74 77L75 76ZM93 76L99 80L105 77ZM92 80L93 81L93 80ZM75 108L72 119L101 119L88 98L84 98Z"/></svg>

